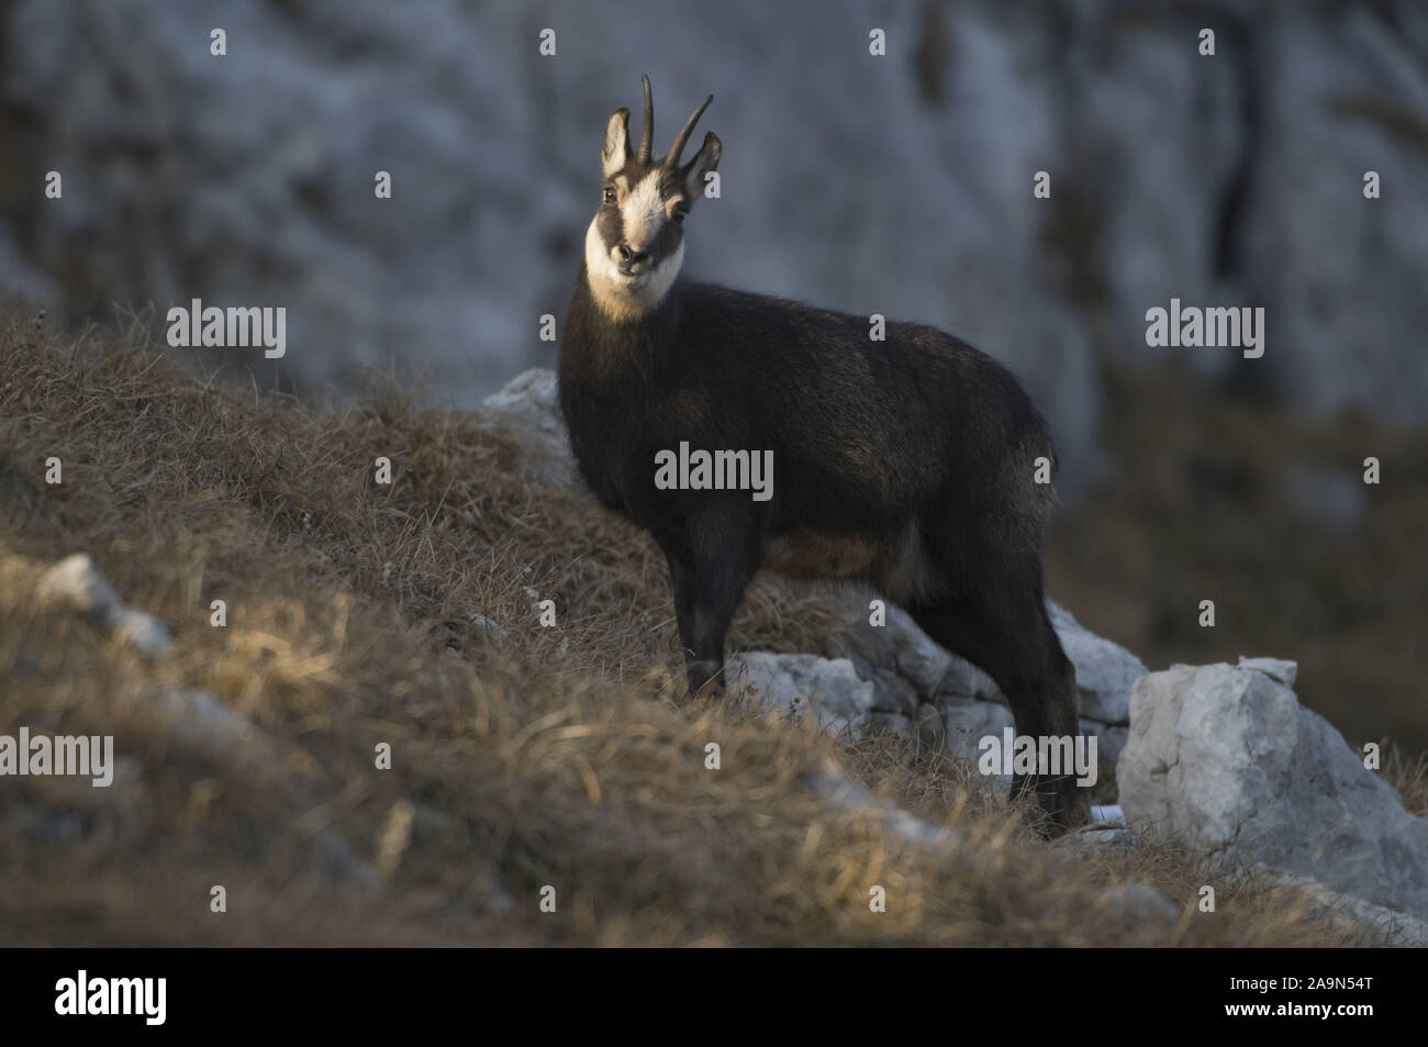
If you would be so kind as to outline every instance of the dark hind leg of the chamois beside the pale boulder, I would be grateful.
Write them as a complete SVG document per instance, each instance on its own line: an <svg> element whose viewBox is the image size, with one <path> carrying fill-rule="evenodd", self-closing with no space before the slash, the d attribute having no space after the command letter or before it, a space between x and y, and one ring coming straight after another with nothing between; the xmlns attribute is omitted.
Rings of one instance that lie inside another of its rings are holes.
<svg viewBox="0 0 1428 1047"><path fill-rule="evenodd" d="M1047 617L1040 566L1030 576L1004 581L908 611L937 643L997 681L1018 736L1074 738L1080 733L1075 666ZM1052 834L1090 821L1091 801L1074 773L1014 776L1012 796L1025 791L1050 817Z"/></svg>

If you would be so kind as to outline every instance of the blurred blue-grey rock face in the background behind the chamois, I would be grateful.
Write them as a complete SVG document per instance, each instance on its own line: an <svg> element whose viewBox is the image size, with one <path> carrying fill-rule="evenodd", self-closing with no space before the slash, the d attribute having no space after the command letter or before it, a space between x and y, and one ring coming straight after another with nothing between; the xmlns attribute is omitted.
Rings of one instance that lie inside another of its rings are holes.
<svg viewBox="0 0 1428 1047"><path fill-rule="evenodd" d="M551 363L605 119L648 73L661 150L715 96L688 274L960 334L1022 376L1072 494L1101 354L1428 419L1428 9L1255 7L16 0L0 289L286 306L298 381L394 359L474 406ZM1265 307L1264 359L1148 349L1172 297Z"/></svg>

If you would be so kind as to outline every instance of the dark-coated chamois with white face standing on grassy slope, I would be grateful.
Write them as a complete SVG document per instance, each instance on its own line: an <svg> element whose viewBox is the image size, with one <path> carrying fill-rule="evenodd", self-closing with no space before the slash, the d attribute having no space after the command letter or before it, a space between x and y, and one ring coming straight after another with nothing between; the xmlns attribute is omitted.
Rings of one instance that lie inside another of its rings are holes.
<svg viewBox="0 0 1428 1047"><path fill-rule="evenodd" d="M1075 667L1041 576L1045 421L1007 369L934 327L887 323L875 341L858 316L684 280L685 216L720 140L681 156L713 97L663 157L648 77L637 150L630 110L610 117L560 340L571 450L595 497L668 561L690 693L720 688L730 620L768 568L875 586L997 681L1018 734L1074 737ZM688 447L771 451L771 496L657 483ZM1012 788L1034 790L1051 831L1090 817L1071 776Z"/></svg>

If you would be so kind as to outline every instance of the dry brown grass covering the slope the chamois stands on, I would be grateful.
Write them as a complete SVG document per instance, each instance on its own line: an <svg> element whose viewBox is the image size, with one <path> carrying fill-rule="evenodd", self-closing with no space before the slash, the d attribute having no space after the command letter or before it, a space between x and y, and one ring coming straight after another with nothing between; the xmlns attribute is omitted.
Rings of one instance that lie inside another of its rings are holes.
<svg viewBox="0 0 1428 1047"><path fill-rule="evenodd" d="M1195 911L1217 881L1174 847L1050 848L905 743L675 704L653 547L523 479L517 449L468 416L390 390L326 413L196 381L141 327L99 341L0 319L0 733L114 734L121 757L110 788L0 780L6 943L1359 941L1255 883L1220 884L1218 911ZM50 456L61 486L44 483ZM373 481L378 456L390 487ZM76 551L170 626L171 658L37 601L43 570ZM831 623L817 590L761 583L733 644L818 650ZM253 737L183 730L154 710L166 684L217 696ZM381 741L390 770L374 767ZM830 811L810 788L830 758L991 864ZM1100 898L1134 880L1184 901L1177 927ZM874 884L885 913L870 911Z"/></svg>

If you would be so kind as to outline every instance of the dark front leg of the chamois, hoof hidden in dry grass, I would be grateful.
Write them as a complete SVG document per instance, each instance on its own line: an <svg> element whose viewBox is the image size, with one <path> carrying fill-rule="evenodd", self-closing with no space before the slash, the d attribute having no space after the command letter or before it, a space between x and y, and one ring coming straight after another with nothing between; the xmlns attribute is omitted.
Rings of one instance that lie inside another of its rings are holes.
<svg viewBox="0 0 1428 1047"><path fill-rule="evenodd" d="M750 527L735 520L703 524L697 534L660 543L674 583L691 698L724 693L724 637L758 570Z"/></svg>

